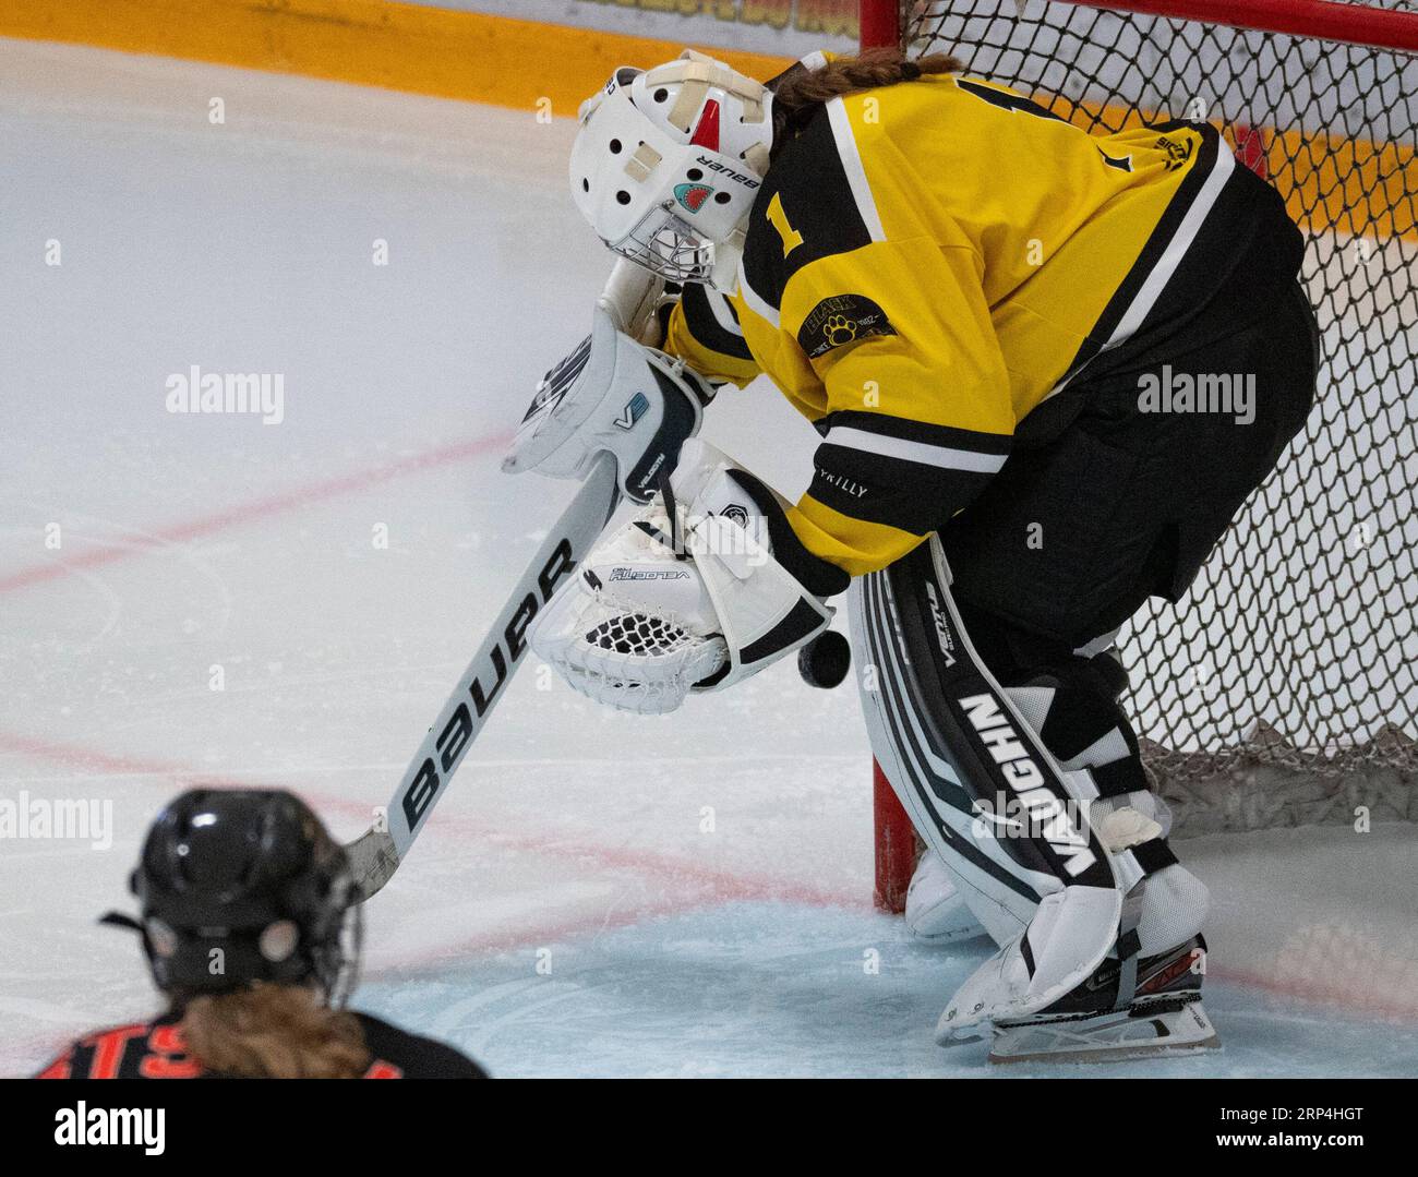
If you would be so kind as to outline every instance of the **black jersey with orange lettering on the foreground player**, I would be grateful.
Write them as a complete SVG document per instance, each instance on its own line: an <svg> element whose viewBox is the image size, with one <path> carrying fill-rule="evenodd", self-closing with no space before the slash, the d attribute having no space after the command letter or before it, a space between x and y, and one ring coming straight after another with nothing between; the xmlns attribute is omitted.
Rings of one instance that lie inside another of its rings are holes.
<svg viewBox="0 0 1418 1177"><path fill-rule="evenodd" d="M482 1068L452 1047L408 1034L369 1014L354 1014L372 1062L364 1079L485 1079ZM177 1015L101 1030L78 1039L37 1079L224 1079L187 1052Z"/></svg>

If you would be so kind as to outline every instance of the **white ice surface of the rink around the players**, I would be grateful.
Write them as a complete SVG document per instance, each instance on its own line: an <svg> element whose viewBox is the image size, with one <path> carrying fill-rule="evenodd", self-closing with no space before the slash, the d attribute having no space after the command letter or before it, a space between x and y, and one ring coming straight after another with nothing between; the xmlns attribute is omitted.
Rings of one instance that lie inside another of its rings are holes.
<svg viewBox="0 0 1418 1177"><path fill-rule="evenodd" d="M176 790L285 784L342 837L387 800L570 493L496 469L607 268L569 138L0 41L0 801L113 818L106 848L0 839L0 1073L153 1008L94 919ZM281 373L284 423L169 414L191 364ZM771 389L708 434L805 485L813 433ZM505 1075L986 1073L930 1039L984 949L871 910L869 825L849 691L783 665L634 719L527 668L370 905L359 1004ZM1123 1073L1418 1073L1411 827L1183 854L1214 889L1227 1049Z"/></svg>

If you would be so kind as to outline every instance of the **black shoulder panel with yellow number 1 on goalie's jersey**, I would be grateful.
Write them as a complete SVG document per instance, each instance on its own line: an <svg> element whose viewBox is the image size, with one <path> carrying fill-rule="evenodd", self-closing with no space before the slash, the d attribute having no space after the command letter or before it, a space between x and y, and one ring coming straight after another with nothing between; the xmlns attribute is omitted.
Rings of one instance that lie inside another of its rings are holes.
<svg viewBox="0 0 1418 1177"><path fill-rule="evenodd" d="M783 208L780 220L791 227L790 241L769 220L774 197ZM871 241L822 106L803 133L783 147L753 201L743 242L744 277L754 294L777 309L783 305L783 288L804 265Z"/></svg>

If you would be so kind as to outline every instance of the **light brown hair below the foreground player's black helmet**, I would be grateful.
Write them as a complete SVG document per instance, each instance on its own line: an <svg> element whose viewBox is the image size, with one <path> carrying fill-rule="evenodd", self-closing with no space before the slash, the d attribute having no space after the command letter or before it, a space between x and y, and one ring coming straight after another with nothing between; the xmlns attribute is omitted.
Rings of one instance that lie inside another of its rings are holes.
<svg viewBox="0 0 1418 1177"><path fill-rule="evenodd" d="M193 997L180 1025L193 1059L244 1079L357 1079L373 1061L359 1020L305 986Z"/></svg>

